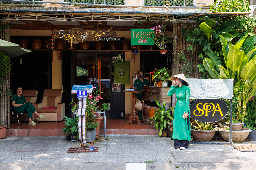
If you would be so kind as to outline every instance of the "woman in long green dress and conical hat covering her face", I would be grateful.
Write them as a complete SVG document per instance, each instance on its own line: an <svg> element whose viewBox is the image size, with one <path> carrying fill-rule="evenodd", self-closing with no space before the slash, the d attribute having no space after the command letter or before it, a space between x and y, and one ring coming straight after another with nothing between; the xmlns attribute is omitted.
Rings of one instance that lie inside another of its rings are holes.
<svg viewBox="0 0 256 170"><path fill-rule="evenodd" d="M188 148L190 141L190 117L189 117L189 87L184 74L177 74L172 77L173 84L167 95L176 93L177 103L173 119L174 148L184 150ZM174 85L178 85L174 87Z"/></svg>

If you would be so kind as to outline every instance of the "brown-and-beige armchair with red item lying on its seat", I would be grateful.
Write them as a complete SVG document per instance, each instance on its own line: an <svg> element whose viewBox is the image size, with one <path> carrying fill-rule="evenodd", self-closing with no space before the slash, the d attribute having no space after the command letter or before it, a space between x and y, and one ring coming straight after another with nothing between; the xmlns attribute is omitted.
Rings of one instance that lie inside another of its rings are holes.
<svg viewBox="0 0 256 170"><path fill-rule="evenodd" d="M43 101L38 104L38 113L45 115L40 121L62 121L65 116L65 103L61 103L61 89L45 89ZM44 109L43 107L57 107L54 109Z"/></svg>

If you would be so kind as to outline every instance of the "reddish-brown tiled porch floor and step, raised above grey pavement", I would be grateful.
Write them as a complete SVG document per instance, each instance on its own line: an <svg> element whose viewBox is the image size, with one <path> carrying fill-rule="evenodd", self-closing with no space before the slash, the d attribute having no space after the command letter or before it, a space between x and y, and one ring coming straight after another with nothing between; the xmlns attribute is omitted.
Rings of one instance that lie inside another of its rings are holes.
<svg viewBox="0 0 256 170"><path fill-rule="evenodd" d="M128 134L128 135L157 135L156 128L144 123L129 125L128 119L106 119L106 134ZM41 122L36 125L10 123L10 129L6 129L6 136L64 136L62 129L64 122ZM11 133L11 134L8 134ZM104 134L104 121L102 119L100 134Z"/></svg>

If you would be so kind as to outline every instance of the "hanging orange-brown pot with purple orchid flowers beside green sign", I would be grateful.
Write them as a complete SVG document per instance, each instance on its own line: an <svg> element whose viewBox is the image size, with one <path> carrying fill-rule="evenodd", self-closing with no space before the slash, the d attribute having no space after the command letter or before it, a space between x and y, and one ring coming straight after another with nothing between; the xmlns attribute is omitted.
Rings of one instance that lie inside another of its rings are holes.
<svg viewBox="0 0 256 170"><path fill-rule="evenodd" d="M166 54L166 44L171 42L171 37L166 31L166 26L157 25L153 28L150 28L150 30L153 31L151 37L158 48L160 48L160 53Z"/></svg>

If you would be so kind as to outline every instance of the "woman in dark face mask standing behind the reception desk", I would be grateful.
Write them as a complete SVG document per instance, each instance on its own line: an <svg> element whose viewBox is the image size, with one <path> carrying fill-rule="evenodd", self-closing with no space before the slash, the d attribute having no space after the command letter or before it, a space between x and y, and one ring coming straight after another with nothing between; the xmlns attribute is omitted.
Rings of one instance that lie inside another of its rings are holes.
<svg viewBox="0 0 256 170"><path fill-rule="evenodd" d="M142 86L150 86L148 80L143 78L144 72L142 70L139 70L138 74L139 74L138 84L137 84L137 81L135 80L133 84L134 88L142 88ZM141 98L142 92L136 93L136 94L137 94L137 98L140 101L142 101L142 98ZM142 111L139 111L139 119L142 122Z"/></svg>

